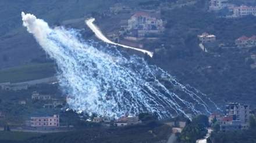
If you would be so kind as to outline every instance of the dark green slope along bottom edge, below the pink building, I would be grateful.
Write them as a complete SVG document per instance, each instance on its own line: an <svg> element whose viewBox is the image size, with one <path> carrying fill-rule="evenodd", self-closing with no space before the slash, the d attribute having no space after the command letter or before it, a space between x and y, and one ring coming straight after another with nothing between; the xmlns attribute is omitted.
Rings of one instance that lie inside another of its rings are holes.
<svg viewBox="0 0 256 143"><path fill-rule="evenodd" d="M153 134L148 130L152 130ZM88 129L67 131L63 133L51 133L51 134L38 134L38 133L19 133L20 135L15 137L17 132L9 131L0 132L0 142L38 142L38 143L53 143L53 142L157 142L161 140L167 140L168 135L172 131L172 128L165 124L159 124L157 122L150 122L148 124L140 124L127 127L118 127L113 129ZM1 138L3 135L5 137ZM22 135L22 137L20 137ZM114 140L113 140L114 139Z"/></svg>

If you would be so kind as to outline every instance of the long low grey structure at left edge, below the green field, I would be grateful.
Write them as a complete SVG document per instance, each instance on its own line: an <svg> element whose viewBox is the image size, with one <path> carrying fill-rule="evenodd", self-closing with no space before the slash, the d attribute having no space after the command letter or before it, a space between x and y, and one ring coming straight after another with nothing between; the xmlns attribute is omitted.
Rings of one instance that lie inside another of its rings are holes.
<svg viewBox="0 0 256 143"><path fill-rule="evenodd" d="M10 82L6 82L6 83L1 83L1 88L3 90L27 90L27 88L29 87L29 85L27 83L10 83Z"/></svg>

